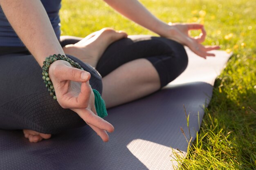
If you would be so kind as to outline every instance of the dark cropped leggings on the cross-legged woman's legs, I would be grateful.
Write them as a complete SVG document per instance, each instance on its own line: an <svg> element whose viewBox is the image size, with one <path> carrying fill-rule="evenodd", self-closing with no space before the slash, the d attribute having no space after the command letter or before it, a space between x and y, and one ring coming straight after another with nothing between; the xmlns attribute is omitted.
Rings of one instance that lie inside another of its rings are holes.
<svg viewBox="0 0 256 170"><path fill-rule="evenodd" d="M61 45L74 44L79 38L63 39ZM91 73L92 88L102 93L101 76L108 75L126 62L145 58L159 73L161 87L186 68L183 46L172 40L150 36L131 36L112 43L101 56L97 72L73 56L72 60ZM0 129L31 129L55 134L78 128L85 122L72 110L61 108L50 97L42 80L42 69L25 49L0 47Z"/></svg>

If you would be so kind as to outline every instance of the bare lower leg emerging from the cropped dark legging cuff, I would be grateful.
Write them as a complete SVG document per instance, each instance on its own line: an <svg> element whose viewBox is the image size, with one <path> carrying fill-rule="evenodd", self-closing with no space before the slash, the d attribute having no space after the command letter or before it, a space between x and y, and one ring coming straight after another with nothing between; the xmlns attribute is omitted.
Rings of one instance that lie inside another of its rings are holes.
<svg viewBox="0 0 256 170"><path fill-rule="evenodd" d="M159 75L146 59L121 65L102 79L102 97L110 108L144 97L160 88Z"/></svg>

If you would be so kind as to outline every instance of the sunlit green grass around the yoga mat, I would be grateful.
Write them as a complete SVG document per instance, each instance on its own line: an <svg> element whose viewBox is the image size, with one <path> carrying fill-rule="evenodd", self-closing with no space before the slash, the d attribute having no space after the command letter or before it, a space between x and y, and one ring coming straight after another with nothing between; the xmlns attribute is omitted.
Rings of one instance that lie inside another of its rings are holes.
<svg viewBox="0 0 256 170"><path fill-rule="evenodd" d="M165 22L199 22L204 44L233 51L216 79L197 139L182 160L184 170L256 169L256 1L141 0ZM63 0L63 35L84 37L103 27L152 34L117 14L101 0ZM195 35L197 32L193 32ZM170 159L182 159L175 157Z"/></svg>

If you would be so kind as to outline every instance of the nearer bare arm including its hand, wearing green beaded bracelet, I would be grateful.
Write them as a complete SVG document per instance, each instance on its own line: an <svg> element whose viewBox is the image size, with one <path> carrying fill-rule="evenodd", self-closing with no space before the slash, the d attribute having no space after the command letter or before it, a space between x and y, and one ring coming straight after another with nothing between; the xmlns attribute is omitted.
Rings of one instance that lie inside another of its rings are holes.
<svg viewBox="0 0 256 170"><path fill-rule="evenodd" d="M40 66L43 66L45 57L49 55L64 55L40 0L0 0L0 5L11 26ZM49 76L58 103L63 108L72 108L103 141L108 141L106 130L112 132L114 127L97 116L94 94L88 81L90 73L72 68L64 60L58 60L49 67ZM76 86L70 86L71 81L74 81Z"/></svg>

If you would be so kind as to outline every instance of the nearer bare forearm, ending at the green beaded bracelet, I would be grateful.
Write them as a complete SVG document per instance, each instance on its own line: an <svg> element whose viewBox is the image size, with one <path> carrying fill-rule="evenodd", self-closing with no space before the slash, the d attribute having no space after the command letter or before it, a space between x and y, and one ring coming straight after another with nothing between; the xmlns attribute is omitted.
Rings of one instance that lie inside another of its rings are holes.
<svg viewBox="0 0 256 170"><path fill-rule="evenodd" d="M40 66L45 57L54 53L64 54L40 0L0 0L0 5Z"/></svg>

